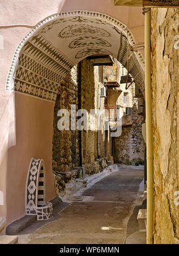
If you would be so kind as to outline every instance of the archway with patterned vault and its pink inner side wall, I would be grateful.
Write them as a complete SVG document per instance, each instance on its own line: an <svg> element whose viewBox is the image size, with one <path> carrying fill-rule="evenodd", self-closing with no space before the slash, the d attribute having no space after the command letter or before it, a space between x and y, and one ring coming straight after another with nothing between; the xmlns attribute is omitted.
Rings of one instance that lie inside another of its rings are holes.
<svg viewBox="0 0 179 256"><path fill-rule="evenodd" d="M132 33L119 20L95 11L69 11L42 20L18 45L6 86L7 91L16 92L17 143L10 150L8 158L13 161L8 161L7 167L10 220L24 215L25 180L32 156L44 159L47 201L55 197L51 157L53 113L61 81L87 56L107 54L118 59L144 91L143 56L132 50L134 44ZM18 198L11 194L12 188L20 195ZM16 217L14 204L20 206Z"/></svg>

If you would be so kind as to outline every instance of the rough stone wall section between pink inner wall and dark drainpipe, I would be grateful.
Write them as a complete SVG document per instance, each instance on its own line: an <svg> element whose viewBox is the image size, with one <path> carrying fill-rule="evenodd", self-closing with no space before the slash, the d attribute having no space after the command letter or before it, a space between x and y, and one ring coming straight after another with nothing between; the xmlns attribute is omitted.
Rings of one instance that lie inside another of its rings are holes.
<svg viewBox="0 0 179 256"><path fill-rule="evenodd" d="M77 132L63 130L57 127L58 110L71 109L71 104L76 104L78 85L76 83L76 66L72 68L60 85L59 93L54 107L54 136L53 136L53 160L57 163L57 170L69 171L78 165Z"/></svg>

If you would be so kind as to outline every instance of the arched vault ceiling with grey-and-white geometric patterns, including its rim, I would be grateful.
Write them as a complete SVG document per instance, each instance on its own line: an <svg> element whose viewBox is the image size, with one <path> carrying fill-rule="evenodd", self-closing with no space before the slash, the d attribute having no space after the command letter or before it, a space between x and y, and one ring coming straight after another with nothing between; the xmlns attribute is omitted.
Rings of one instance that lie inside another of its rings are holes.
<svg viewBox="0 0 179 256"><path fill-rule="evenodd" d="M79 61L91 55L112 55L134 77L143 91L144 60L133 52L128 28L106 14L69 11L38 23L14 54L7 90L14 89L55 101L61 80Z"/></svg>

